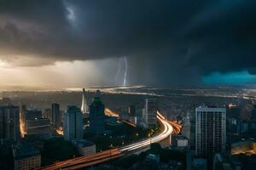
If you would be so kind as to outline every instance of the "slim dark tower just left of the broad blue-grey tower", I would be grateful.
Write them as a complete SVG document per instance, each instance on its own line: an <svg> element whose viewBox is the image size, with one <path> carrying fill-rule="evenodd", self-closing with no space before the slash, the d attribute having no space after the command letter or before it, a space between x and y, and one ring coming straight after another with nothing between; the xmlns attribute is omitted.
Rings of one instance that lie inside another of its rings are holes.
<svg viewBox="0 0 256 170"><path fill-rule="evenodd" d="M51 114L50 114L50 123L58 128L61 126L61 113L60 113L60 105L57 103L53 103L51 105Z"/></svg>

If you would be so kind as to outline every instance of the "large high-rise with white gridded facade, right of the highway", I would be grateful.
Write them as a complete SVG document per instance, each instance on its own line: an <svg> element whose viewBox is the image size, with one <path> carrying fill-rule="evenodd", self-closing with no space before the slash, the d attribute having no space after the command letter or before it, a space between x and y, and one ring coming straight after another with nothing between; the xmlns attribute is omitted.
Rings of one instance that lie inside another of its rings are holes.
<svg viewBox="0 0 256 170"><path fill-rule="evenodd" d="M195 109L195 154L212 160L225 151L226 108L202 106Z"/></svg>

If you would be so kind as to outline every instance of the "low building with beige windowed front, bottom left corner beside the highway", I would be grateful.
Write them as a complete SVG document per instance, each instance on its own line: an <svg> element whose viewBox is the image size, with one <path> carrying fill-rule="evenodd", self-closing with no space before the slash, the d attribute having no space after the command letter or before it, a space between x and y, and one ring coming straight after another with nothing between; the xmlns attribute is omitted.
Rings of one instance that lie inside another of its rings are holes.
<svg viewBox="0 0 256 170"><path fill-rule="evenodd" d="M32 144L15 144L12 146L15 170L36 169L41 166L40 150Z"/></svg>

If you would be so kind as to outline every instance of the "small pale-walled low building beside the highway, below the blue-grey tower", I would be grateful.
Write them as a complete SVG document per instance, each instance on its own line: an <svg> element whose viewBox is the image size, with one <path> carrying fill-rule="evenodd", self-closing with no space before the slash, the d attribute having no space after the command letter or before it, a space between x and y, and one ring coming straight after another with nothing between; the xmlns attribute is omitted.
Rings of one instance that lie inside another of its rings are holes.
<svg viewBox="0 0 256 170"><path fill-rule="evenodd" d="M89 156L96 153L96 144L86 139L73 139L72 143L78 148L79 154Z"/></svg>

